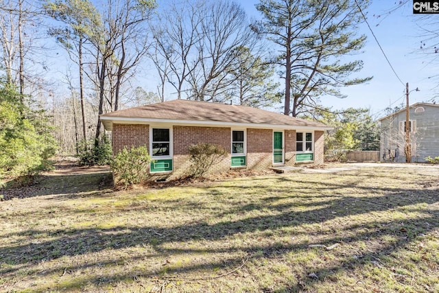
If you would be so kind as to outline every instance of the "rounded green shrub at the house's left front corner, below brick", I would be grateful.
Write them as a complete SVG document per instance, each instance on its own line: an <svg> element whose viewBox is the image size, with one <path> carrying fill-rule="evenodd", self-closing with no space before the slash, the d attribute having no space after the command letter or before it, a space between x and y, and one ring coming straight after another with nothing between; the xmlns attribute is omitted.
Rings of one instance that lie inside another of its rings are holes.
<svg viewBox="0 0 439 293"><path fill-rule="evenodd" d="M115 180L122 182L125 188L128 185L141 183L147 178L150 162L151 156L145 146L123 148L111 163Z"/></svg>

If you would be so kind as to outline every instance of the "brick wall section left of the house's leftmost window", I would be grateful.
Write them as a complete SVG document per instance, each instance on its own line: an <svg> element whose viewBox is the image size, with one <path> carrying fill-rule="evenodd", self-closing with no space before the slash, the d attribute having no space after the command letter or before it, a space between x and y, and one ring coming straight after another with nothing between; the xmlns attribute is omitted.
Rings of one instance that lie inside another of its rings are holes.
<svg viewBox="0 0 439 293"><path fill-rule="evenodd" d="M150 150L150 126L145 124L113 124L112 152L117 154L124 146L146 145Z"/></svg>

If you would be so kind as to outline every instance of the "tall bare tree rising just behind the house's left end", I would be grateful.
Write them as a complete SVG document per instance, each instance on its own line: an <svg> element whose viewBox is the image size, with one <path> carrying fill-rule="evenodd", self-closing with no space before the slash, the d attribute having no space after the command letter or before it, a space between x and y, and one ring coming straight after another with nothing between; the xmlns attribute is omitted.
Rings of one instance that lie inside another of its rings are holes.
<svg viewBox="0 0 439 293"><path fill-rule="evenodd" d="M104 98L110 110L119 108L119 92L127 73L133 71L147 52L146 25L155 1L108 0L102 13L104 25L93 34L96 84L99 88L98 115L104 113ZM109 89L106 88L110 85ZM106 91L108 94L106 95ZM99 143L101 120L98 116L95 145Z"/></svg>

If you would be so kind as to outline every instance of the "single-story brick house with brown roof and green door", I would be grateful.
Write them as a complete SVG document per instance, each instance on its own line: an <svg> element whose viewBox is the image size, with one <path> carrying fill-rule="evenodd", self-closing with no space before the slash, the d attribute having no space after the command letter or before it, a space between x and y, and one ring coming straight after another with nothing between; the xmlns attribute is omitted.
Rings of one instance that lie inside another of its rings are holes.
<svg viewBox="0 0 439 293"><path fill-rule="evenodd" d="M267 110L176 99L101 115L112 131L112 149L146 145L150 174L178 178L189 167L189 145L222 145L228 157L213 172L266 169L298 163L322 164L323 132L318 122ZM156 177L154 176L154 177ZM157 177L156 177L157 178Z"/></svg>

